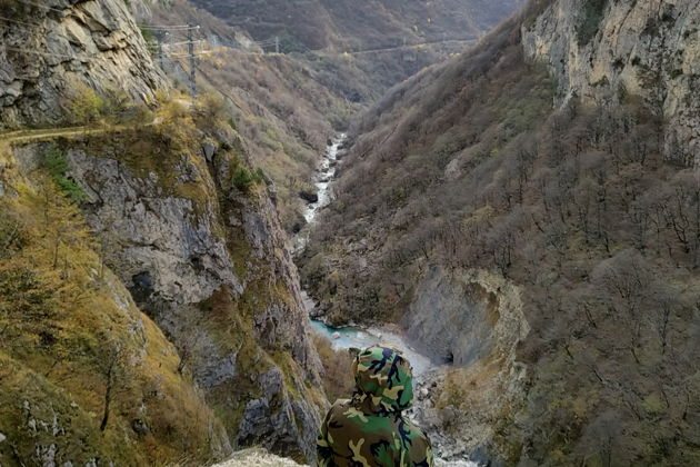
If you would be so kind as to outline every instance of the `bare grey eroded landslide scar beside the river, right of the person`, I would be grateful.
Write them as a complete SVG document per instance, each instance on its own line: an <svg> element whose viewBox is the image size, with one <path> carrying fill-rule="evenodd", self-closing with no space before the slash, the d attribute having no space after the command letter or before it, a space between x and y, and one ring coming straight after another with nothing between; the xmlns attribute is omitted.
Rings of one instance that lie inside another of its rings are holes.
<svg viewBox="0 0 700 467"><path fill-rule="evenodd" d="M402 325L414 347L454 362L428 374L416 390L414 415L436 453L448 465L466 455L488 461L493 420L524 394L527 368L516 360L517 346L530 331L521 290L484 270L432 267ZM461 407L454 406L456 391L464 399Z"/></svg>

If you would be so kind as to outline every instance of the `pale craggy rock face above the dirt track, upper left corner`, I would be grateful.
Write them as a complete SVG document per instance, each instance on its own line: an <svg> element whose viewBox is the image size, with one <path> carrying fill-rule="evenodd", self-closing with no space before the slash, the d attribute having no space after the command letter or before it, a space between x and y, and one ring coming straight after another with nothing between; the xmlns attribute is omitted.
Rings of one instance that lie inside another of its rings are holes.
<svg viewBox="0 0 700 467"><path fill-rule="evenodd" d="M39 2L36 2L39 3ZM0 22L0 128L56 123L71 88L124 91L148 101L166 80L122 0L46 0Z"/></svg>

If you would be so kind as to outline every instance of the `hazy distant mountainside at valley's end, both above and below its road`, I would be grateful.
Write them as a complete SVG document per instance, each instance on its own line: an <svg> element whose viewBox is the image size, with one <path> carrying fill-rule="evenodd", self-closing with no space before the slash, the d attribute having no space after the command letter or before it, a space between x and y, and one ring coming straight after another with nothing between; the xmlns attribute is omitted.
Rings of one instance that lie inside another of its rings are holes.
<svg viewBox="0 0 700 467"><path fill-rule="evenodd" d="M391 86L459 52L521 0L196 0L192 3L248 31L280 39L280 51L306 60L324 85L352 102L374 101ZM459 39L442 42L444 39ZM407 44L431 42L419 48ZM437 43L433 43L437 42ZM397 48L398 47L398 48ZM367 54L344 52L373 51ZM274 46L268 46L274 51Z"/></svg>

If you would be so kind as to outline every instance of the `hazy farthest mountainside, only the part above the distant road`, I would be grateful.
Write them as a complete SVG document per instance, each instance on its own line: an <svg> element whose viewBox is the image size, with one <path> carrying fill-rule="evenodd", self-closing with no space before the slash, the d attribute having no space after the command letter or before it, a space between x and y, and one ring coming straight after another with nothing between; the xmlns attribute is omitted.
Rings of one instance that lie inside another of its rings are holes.
<svg viewBox="0 0 700 467"><path fill-rule="evenodd" d="M317 50L479 37L520 0L196 0L257 39L286 36Z"/></svg>

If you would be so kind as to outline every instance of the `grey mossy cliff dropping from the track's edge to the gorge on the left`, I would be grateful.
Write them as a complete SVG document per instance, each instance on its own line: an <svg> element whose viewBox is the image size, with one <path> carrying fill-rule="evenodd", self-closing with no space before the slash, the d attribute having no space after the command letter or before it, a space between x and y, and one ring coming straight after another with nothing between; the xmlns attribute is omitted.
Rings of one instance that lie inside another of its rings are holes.
<svg viewBox="0 0 700 467"><path fill-rule="evenodd" d="M163 148L158 135L59 145L87 193L106 261L178 347L180 369L193 375L234 445L312 457L318 357L267 190L231 186L243 153L221 149L240 150L230 132L190 151ZM23 170L36 170L47 150L20 148Z"/></svg>

